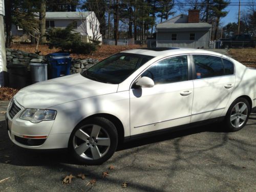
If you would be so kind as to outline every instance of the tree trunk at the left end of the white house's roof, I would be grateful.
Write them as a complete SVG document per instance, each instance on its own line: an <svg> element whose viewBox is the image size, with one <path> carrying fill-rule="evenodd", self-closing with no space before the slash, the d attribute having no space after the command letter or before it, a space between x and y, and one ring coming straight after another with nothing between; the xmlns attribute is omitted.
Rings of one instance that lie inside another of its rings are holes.
<svg viewBox="0 0 256 192"><path fill-rule="evenodd" d="M40 43L46 42L46 0L41 0L39 12Z"/></svg>

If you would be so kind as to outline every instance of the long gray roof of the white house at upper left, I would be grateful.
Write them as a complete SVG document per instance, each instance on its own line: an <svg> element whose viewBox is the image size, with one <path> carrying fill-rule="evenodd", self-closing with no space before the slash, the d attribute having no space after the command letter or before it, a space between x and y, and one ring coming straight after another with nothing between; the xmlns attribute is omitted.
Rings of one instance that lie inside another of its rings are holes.
<svg viewBox="0 0 256 192"><path fill-rule="evenodd" d="M46 19L80 19L88 17L92 11L86 12L46 12Z"/></svg>

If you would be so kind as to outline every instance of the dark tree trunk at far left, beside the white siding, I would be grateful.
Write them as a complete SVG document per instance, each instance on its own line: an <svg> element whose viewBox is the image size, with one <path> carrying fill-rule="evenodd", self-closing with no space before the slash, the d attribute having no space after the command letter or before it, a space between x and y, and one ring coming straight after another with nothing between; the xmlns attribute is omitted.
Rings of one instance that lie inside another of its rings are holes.
<svg viewBox="0 0 256 192"><path fill-rule="evenodd" d="M12 0L5 0L5 27L6 27L6 48L11 46L11 29L12 29Z"/></svg>

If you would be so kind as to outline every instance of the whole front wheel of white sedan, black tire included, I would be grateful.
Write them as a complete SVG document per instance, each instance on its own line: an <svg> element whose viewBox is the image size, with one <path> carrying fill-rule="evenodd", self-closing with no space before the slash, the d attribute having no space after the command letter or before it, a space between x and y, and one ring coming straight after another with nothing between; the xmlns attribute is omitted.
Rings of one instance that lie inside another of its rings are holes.
<svg viewBox="0 0 256 192"><path fill-rule="evenodd" d="M108 119L93 117L79 123L69 139L73 156L86 165L102 164L116 151L118 135Z"/></svg>

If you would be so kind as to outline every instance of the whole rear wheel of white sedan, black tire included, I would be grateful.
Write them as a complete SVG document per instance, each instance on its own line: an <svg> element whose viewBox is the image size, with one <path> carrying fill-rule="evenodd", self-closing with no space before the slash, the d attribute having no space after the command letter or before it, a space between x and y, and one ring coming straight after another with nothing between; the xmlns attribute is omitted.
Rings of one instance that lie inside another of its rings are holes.
<svg viewBox="0 0 256 192"><path fill-rule="evenodd" d="M245 98L238 98L234 100L225 117L227 131L236 132L241 130L247 123L249 114L250 105Z"/></svg>

